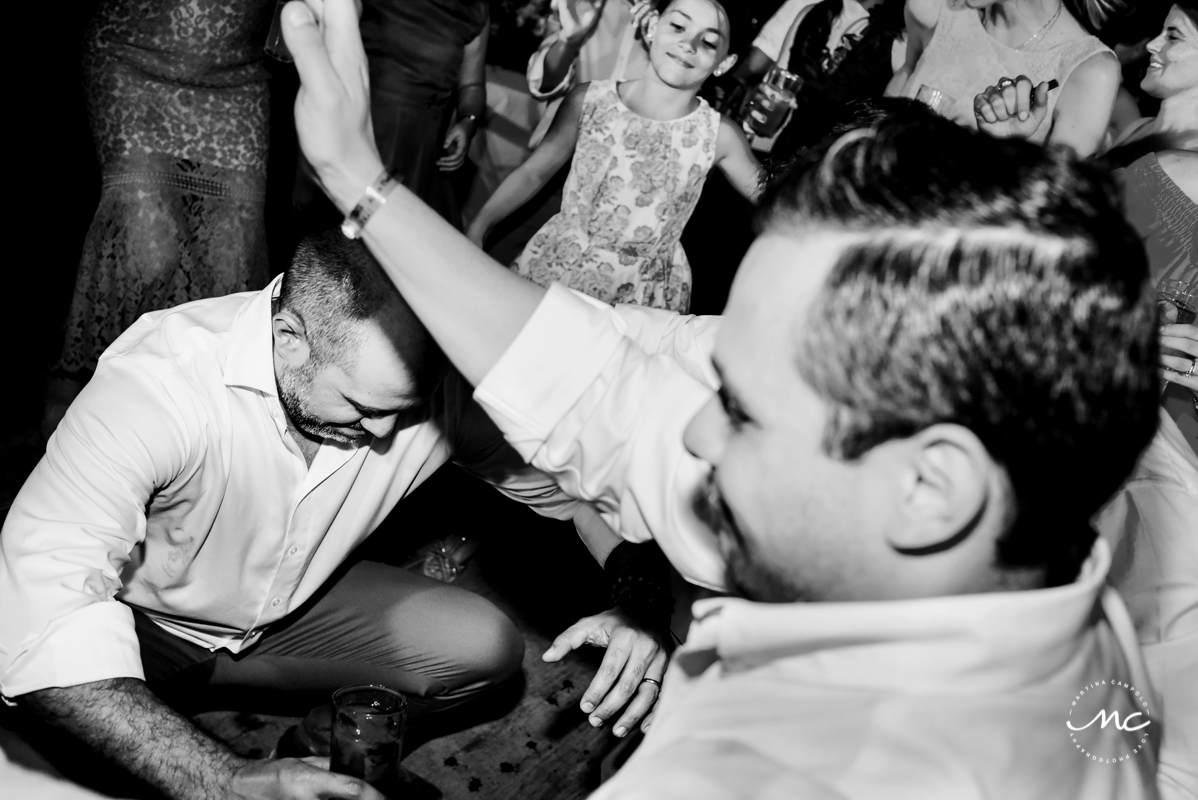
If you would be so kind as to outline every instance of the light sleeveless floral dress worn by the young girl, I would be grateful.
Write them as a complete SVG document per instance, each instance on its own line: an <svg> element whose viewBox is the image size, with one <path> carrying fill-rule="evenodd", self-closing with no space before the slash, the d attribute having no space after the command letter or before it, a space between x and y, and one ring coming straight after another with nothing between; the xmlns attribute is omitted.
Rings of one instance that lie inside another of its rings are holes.
<svg viewBox="0 0 1198 800"><path fill-rule="evenodd" d="M690 263L678 240L715 162L720 115L698 98L686 116L647 120L616 87L587 87L562 210L512 268L607 303L686 311Z"/></svg>

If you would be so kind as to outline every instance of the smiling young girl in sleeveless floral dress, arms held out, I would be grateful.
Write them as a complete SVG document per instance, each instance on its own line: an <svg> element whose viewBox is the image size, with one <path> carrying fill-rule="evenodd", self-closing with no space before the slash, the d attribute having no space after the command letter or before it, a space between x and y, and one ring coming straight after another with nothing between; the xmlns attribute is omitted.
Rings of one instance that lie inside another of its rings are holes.
<svg viewBox="0 0 1198 800"><path fill-rule="evenodd" d="M740 128L698 89L736 62L728 18L715 0L674 0L647 32L640 80L581 84L533 154L500 184L467 231L488 231L528 201L571 153L562 210L537 231L513 269L609 303L685 311L690 263L679 237L718 165L755 198L760 164Z"/></svg>

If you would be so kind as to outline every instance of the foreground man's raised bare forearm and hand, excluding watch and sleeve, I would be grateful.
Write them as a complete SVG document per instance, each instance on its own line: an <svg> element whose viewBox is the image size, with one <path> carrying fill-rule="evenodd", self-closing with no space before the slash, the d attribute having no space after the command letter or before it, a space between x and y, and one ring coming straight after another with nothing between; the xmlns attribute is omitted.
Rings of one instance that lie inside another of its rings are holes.
<svg viewBox="0 0 1198 800"><path fill-rule="evenodd" d="M349 211L382 171L370 131L365 53L352 0L284 10L284 35L301 87L296 129L325 190ZM477 384L536 310L545 290L501 267L404 187L364 234L409 304Z"/></svg>

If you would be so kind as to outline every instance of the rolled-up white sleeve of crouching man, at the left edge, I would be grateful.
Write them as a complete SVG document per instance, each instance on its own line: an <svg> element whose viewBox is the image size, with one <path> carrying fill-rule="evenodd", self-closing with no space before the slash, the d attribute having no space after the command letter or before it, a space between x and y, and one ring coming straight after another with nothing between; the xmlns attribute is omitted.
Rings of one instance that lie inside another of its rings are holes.
<svg viewBox="0 0 1198 800"><path fill-rule="evenodd" d="M0 692L143 678L121 571L157 486L187 468L186 400L108 359L68 410L0 533ZM168 411L169 410L169 411Z"/></svg>

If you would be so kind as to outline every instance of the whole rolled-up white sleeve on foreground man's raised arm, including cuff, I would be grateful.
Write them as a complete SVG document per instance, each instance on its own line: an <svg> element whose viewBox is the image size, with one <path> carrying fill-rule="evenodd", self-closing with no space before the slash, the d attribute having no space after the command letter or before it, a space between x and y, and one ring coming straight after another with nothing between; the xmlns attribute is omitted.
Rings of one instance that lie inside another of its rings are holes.
<svg viewBox="0 0 1198 800"><path fill-rule="evenodd" d="M694 510L710 466L683 446L712 387L647 353L619 313L552 286L474 398L521 456L621 535L655 539L685 578L724 588L715 537Z"/></svg>

